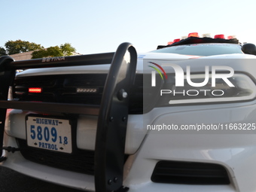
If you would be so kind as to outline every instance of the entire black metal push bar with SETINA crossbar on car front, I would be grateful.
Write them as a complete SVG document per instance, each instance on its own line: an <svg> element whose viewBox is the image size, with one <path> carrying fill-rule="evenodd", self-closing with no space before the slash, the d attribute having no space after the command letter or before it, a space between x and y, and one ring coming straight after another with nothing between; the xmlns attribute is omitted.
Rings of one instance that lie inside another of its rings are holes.
<svg viewBox="0 0 256 192"><path fill-rule="evenodd" d="M137 53L130 43L123 43L115 53L99 53L61 58L14 61L11 56L0 57L0 160L5 117L8 108L27 111L65 112L98 115L94 157L95 188L97 192L128 191L123 187L123 162L128 119L130 87L136 75ZM9 87L14 83L17 69L110 64L100 107L52 102L8 101Z"/></svg>

